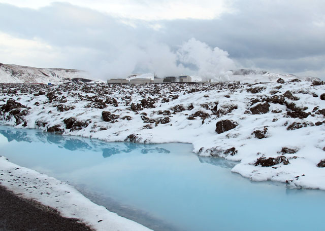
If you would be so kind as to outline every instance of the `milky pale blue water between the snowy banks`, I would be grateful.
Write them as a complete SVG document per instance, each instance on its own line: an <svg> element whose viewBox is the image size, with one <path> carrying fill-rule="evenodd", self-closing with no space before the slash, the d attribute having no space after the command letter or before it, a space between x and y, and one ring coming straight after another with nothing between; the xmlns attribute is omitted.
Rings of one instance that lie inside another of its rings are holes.
<svg viewBox="0 0 325 231"><path fill-rule="evenodd" d="M155 230L324 230L324 191L253 183L191 150L0 127L0 155Z"/></svg>

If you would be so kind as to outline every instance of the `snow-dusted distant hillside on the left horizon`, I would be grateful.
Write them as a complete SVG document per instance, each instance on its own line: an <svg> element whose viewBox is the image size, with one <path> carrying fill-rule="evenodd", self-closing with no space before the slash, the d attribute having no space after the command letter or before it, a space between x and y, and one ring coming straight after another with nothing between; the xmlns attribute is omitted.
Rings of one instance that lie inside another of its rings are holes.
<svg viewBox="0 0 325 231"><path fill-rule="evenodd" d="M0 63L0 83L52 83L91 82L82 70L36 68Z"/></svg>

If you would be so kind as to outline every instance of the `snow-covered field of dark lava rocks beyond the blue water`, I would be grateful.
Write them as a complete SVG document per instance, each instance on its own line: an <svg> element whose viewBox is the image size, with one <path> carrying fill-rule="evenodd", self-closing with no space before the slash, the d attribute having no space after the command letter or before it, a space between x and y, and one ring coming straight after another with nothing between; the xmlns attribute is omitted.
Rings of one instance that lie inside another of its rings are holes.
<svg viewBox="0 0 325 231"><path fill-rule="evenodd" d="M0 88L3 125L106 141L192 143L200 156L238 161L232 171L253 181L325 190L322 82Z"/></svg>

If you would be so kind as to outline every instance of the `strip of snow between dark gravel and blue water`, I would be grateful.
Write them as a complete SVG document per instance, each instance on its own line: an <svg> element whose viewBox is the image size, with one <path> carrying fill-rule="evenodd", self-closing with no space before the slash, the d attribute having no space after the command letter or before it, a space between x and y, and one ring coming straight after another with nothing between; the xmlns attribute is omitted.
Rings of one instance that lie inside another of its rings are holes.
<svg viewBox="0 0 325 231"><path fill-rule="evenodd" d="M92 203L71 185L9 162L0 156L0 183L27 199L56 209L61 216L76 218L94 230L151 230Z"/></svg>

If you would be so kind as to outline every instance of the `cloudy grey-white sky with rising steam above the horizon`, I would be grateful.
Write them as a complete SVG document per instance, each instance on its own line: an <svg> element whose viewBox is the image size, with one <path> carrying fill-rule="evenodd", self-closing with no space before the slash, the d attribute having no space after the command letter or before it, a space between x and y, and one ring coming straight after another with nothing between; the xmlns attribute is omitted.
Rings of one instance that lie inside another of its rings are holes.
<svg viewBox="0 0 325 231"><path fill-rule="evenodd" d="M250 68L325 79L325 1L0 0L0 62L213 79Z"/></svg>

